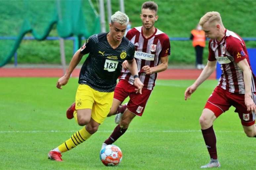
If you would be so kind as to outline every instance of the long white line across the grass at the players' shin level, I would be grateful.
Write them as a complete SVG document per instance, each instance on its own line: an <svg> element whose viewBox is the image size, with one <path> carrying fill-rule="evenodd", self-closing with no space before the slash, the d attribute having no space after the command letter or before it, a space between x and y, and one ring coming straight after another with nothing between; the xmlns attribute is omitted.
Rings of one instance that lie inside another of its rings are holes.
<svg viewBox="0 0 256 170"><path fill-rule="evenodd" d="M77 130L28 130L28 131L0 131L0 133L67 133L76 132ZM112 130L99 130L98 133L111 133ZM131 133L187 133L187 132L201 132L201 130L127 130ZM243 131L230 131L230 130L218 130L217 133L243 133Z"/></svg>

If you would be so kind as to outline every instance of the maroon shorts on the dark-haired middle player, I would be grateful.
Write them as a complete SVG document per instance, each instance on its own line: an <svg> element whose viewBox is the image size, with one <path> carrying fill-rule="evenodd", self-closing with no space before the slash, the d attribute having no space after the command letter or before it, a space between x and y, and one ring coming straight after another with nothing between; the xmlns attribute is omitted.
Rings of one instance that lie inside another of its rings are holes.
<svg viewBox="0 0 256 170"><path fill-rule="evenodd" d="M123 102L129 96L127 109L138 116L142 116L152 90L143 88L142 94L136 94L135 89L134 85L122 79L115 87L114 99Z"/></svg>

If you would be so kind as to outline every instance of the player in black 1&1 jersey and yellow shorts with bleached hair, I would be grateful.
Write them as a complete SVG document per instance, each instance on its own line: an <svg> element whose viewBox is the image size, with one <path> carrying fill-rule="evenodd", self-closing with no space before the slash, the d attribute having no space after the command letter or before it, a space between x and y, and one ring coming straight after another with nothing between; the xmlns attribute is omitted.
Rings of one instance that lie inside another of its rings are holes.
<svg viewBox="0 0 256 170"><path fill-rule="evenodd" d="M111 108L116 79L121 73L123 61L128 61L129 70L135 77L134 86L141 94L143 83L138 77L135 48L133 43L123 37L128 22L126 14L119 11L113 14L109 23L110 32L91 36L77 50L65 75L58 80L56 87L62 89L61 86L67 84L82 56L89 53L80 71L74 112L78 125L85 127L50 151L50 159L62 161L61 153L81 144L98 130Z"/></svg>

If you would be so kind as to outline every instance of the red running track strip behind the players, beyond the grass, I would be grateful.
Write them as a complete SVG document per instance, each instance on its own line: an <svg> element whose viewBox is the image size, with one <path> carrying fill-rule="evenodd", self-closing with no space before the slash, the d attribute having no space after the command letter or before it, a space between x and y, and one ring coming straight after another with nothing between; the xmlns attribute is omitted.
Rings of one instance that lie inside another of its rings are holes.
<svg viewBox="0 0 256 170"><path fill-rule="evenodd" d="M75 69L73 77L79 76L80 69ZM158 73L157 79L196 79L202 70L196 69L168 69ZM25 69L25 68L0 68L0 77L61 77L63 69ZM212 73L210 79L216 78L216 72Z"/></svg>

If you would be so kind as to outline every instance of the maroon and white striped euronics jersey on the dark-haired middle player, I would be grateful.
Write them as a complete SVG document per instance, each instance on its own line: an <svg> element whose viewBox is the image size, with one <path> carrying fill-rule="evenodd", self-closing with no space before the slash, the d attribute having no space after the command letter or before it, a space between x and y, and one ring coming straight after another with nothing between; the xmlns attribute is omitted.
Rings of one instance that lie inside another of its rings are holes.
<svg viewBox="0 0 256 170"><path fill-rule="evenodd" d="M155 85L157 73L147 75L143 70L143 66L155 67L161 63L160 58L170 55L170 40L169 37L162 31L155 28L154 34L145 38L143 36L142 26L135 27L126 34L135 46L134 58L137 62L138 73L143 88L152 90ZM134 77L129 70L122 69L120 79L125 79L130 84L133 84Z"/></svg>

